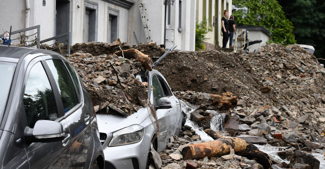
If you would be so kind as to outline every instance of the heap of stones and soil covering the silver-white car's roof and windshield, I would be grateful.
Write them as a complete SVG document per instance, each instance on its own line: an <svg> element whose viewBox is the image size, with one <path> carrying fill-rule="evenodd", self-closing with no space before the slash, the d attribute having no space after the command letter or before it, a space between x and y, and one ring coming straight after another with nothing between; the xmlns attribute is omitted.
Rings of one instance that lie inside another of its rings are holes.
<svg viewBox="0 0 325 169"><path fill-rule="evenodd" d="M137 60L79 52L67 59L81 77L96 112L128 116L149 104L148 85L135 77L143 71Z"/></svg>

